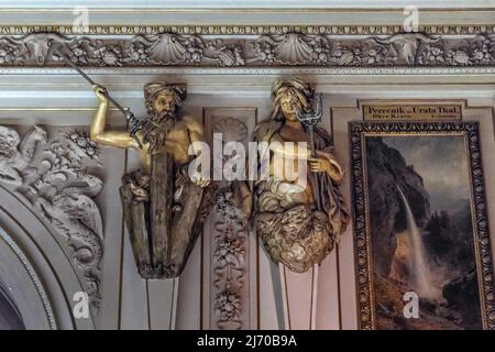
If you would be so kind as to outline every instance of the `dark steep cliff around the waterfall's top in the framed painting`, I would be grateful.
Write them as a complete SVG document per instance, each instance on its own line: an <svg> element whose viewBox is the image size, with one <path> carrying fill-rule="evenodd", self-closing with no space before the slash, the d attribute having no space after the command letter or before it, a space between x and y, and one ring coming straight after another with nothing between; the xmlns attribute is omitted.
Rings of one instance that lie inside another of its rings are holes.
<svg viewBox="0 0 495 352"><path fill-rule="evenodd" d="M366 139L366 163L370 187L372 251L377 274L388 276L397 248L396 233L407 229L405 208L397 186L409 200L418 226L430 216L430 200L421 176L407 165L400 153L386 145L382 138Z"/></svg>

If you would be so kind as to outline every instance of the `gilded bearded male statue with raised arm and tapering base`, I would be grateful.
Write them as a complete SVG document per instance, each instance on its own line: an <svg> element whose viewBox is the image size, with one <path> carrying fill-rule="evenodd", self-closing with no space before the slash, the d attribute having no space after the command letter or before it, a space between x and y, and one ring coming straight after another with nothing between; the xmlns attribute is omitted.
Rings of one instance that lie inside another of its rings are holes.
<svg viewBox="0 0 495 352"><path fill-rule="evenodd" d="M127 131L106 131L108 98L95 87L100 100L91 123L91 140L100 145L138 150L142 169L124 175L121 199L139 273L143 278L172 278L183 271L202 231L211 205L210 182L187 173L193 142L202 142L204 129L191 117L179 118L176 109L186 89L166 84L144 87L148 133L138 142ZM142 147L140 147L140 143ZM200 153L201 151L196 151Z"/></svg>

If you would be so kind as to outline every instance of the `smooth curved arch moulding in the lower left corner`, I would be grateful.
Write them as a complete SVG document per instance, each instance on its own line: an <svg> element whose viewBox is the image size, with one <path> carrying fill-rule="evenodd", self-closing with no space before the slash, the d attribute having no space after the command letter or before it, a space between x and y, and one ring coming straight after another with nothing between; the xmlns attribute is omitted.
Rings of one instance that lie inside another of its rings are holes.
<svg viewBox="0 0 495 352"><path fill-rule="evenodd" d="M95 329L91 316L73 317L74 294L85 287L64 243L14 194L0 187L0 277L18 285L12 296L26 328Z"/></svg>

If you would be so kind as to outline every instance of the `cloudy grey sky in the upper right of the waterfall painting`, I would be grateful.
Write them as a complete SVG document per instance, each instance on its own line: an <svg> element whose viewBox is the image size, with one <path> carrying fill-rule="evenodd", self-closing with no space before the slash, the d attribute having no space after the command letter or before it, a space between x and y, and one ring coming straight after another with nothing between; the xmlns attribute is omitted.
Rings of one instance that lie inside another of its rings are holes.
<svg viewBox="0 0 495 352"><path fill-rule="evenodd" d="M421 175L430 195L431 211L452 210L470 198L464 138L458 135L384 136Z"/></svg>

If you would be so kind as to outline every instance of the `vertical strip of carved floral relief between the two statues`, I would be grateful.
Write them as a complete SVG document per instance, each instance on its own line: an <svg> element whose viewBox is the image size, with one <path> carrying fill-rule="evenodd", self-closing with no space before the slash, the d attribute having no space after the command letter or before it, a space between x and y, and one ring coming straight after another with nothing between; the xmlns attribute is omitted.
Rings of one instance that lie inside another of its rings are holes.
<svg viewBox="0 0 495 352"><path fill-rule="evenodd" d="M213 127L226 142L243 142L248 127L233 118L222 118ZM215 324L218 329L245 329L249 304L249 230L242 196L234 182L219 182L212 211L212 289Z"/></svg>

